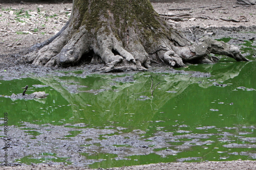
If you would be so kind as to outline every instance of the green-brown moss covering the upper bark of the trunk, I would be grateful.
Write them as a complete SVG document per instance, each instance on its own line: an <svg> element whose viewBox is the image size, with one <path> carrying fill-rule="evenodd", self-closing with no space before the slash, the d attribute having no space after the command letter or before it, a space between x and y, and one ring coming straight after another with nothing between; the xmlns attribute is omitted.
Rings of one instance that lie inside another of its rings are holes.
<svg viewBox="0 0 256 170"><path fill-rule="evenodd" d="M148 0L74 0L74 9L79 13L74 26L85 25L94 33L102 26L110 26L119 36L137 24L140 28L161 27L159 16Z"/></svg>

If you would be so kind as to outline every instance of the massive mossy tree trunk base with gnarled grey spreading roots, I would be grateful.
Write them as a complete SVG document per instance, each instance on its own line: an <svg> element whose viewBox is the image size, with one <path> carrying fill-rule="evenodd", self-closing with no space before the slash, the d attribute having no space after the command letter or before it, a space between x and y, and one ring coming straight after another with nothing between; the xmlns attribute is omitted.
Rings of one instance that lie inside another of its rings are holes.
<svg viewBox="0 0 256 170"><path fill-rule="evenodd" d="M73 0L62 30L17 62L69 67L80 61L105 63L104 72L146 70L151 61L174 67L215 63L210 53L248 61L239 49L204 38L193 44L154 11L149 0Z"/></svg>

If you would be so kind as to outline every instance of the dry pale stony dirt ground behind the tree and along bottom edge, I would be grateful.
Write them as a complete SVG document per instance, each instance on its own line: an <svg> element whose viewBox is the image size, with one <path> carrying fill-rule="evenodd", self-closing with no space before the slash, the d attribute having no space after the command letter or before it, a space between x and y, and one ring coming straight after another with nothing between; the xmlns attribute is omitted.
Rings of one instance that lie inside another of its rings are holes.
<svg viewBox="0 0 256 170"><path fill-rule="evenodd" d="M192 21L184 18L181 21L171 21L170 25L182 31L190 40L198 41L202 36L209 35L214 39L222 37L236 37L237 41L255 39L256 6L241 6L231 1L223 0L170 0L168 3L152 3L159 14L172 12L178 14L187 12ZM201 8L201 7L204 8ZM221 8L209 9L214 6ZM171 8L193 8L186 11L169 11ZM2 3L0 10L0 76L3 80L11 80L15 77L23 78L26 74L48 74L54 72L52 68L40 68L25 65L15 65L15 60L28 52L32 45L43 42L56 34L65 25L69 18L71 3ZM13 14L12 12L13 11ZM25 17L26 16L26 17ZM199 18L199 17L203 17ZM240 22L228 22L224 19L235 19ZM235 42L234 42L235 43ZM11 56L11 57L10 57ZM66 68L87 69L92 72L95 67L83 66ZM29 69L28 69L29 68ZM5 70L5 71L4 71ZM60 69L64 70L64 69ZM25 73L26 72L26 73ZM25 74L24 74L25 73ZM61 73L58 73L61 75ZM57 127L56 127L57 128ZM64 132L63 132L64 133ZM24 134L25 135L25 134ZM15 136L15 135L14 135ZM13 139L18 141L18 139ZM78 160L79 155L72 159ZM17 164L19 165L19 164ZM32 164L0 169L84 169L76 166L64 166L53 164ZM255 169L256 161L223 161L223 162L198 162L198 163L158 163L109 169Z"/></svg>

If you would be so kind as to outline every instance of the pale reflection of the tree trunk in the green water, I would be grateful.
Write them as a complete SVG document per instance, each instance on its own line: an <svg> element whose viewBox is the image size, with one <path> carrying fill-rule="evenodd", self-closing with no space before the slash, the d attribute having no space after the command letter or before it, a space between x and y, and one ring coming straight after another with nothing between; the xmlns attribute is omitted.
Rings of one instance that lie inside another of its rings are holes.
<svg viewBox="0 0 256 170"><path fill-rule="evenodd" d="M215 75L214 79L217 79L217 81L232 79L239 74L246 63L247 62L236 62L226 68L213 70L212 73ZM73 113L75 117L74 120L76 120L74 123L77 123L80 117L87 119L84 123L94 124L96 126L102 126L102 124L108 125L110 121L115 123L119 122L115 124L115 126L123 126L123 123L127 124L128 120L133 120L128 121L130 122L128 126L130 126L131 129L136 129L144 123L145 126L141 126L143 127L142 130L147 129L147 122L154 120L153 117L157 120L161 119L158 114L159 110L155 109L161 109L170 100L182 102L183 98L179 95L182 94L189 85L195 84L197 86L198 81L201 81L203 83L199 84L199 86L203 88L209 87L209 83L206 83L209 77L198 78L182 74L152 74L155 82L161 81L161 84L157 87L159 89L156 89L154 92L153 99L146 101L136 100L140 95L131 96L131 94L150 89L151 83L150 77L148 77L150 74L152 73L135 74L134 79L136 82L130 83L114 82L112 79L115 77L106 74L91 75L85 79L74 76L60 77L59 79L54 77L34 77L34 79L54 88L71 104L72 110L77 110L77 112ZM78 85L88 86L86 90L105 88L108 89L108 91L103 91L97 95L86 92L80 92L78 94L70 93L68 85L74 84L72 82L78 82ZM174 86L178 88L176 89ZM112 88L118 90L118 92L113 91ZM167 93L166 91L176 91L177 93ZM151 94L148 92L148 94L144 93L143 95L150 96ZM175 100L177 98L179 100ZM92 106L89 107L86 104ZM83 109L83 111L79 109ZM95 112L92 112L92 110L95 110ZM129 113L135 114L132 114L131 117Z"/></svg>

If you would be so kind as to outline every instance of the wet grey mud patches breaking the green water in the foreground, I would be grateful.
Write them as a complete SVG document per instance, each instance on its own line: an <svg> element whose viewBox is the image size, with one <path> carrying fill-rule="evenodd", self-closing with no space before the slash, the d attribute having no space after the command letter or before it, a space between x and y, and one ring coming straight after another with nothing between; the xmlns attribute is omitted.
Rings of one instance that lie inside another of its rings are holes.
<svg viewBox="0 0 256 170"><path fill-rule="evenodd" d="M0 120L3 122L3 120ZM20 122L20 126L9 126L8 165L23 165L23 158L35 160L55 159L57 161L47 161L48 165L74 165L76 167L86 167L95 162L104 161L104 159L91 159L90 155L96 153L108 153L115 155L115 160L127 160L131 155L148 155L155 153L165 158L168 155L176 155L186 152L194 146L205 146L213 144L212 136L220 136L219 141L230 141L229 144L223 144L226 148L256 148L255 137L243 137L225 129L233 127L216 128L215 126L196 127L202 130L202 133L193 134L187 128L187 125L179 125L176 132L165 132L160 129L154 133L154 136L144 136L143 130L135 129L132 132L123 132L126 128L106 126L106 127L89 127L84 123L64 124L62 126L51 124L31 124ZM244 130L256 129L256 127L234 127L244 134ZM215 129L215 133L203 133L204 130ZM0 128L3 130L3 126ZM221 131L218 131L221 130ZM185 134L184 134L185 133ZM238 137L241 142L247 144L232 143L234 137ZM218 141L217 140L217 141ZM173 145L175 142L180 145ZM249 143L248 143L249 142ZM4 140L0 140L0 145L4 145ZM51 153L50 155L47 153ZM84 154L86 153L86 154ZM220 152L219 152L220 153ZM247 155L255 159L255 152L229 152L230 155ZM3 155L0 155L0 158ZM177 162L200 160L200 157L187 157L177 159ZM3 163L2 163L3 165ZM32 164L34 165L34 164ZM39 166L38 164L37 166Z"/></svg>

